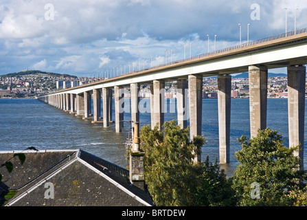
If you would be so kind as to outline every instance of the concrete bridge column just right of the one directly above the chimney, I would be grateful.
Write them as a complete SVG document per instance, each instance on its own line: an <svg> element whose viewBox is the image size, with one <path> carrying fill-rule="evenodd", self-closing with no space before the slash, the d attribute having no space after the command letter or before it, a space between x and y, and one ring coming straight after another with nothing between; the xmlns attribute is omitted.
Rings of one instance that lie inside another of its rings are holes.
<svg viewBox="0 0 307 220"><path fill-rule="evenodd" d="M165 94L165 83L163 80L153 80L153 97L151 96L152 100L152 129L159 126L161 130L163 123L164 123L164 94Z"/></svg>

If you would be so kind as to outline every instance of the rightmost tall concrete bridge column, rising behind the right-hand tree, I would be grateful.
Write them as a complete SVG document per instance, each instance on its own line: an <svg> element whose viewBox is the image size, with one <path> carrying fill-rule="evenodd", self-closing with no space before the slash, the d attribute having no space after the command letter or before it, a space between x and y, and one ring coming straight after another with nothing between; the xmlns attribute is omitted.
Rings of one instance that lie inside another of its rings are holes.
<svg viewBox="0 0 307 220"><path fill-rule="evenodd" d="M288 133L289 147L299 146L295 155L301 159L304 169L304 124L305 124L306 67L288 67Z"/></svg>

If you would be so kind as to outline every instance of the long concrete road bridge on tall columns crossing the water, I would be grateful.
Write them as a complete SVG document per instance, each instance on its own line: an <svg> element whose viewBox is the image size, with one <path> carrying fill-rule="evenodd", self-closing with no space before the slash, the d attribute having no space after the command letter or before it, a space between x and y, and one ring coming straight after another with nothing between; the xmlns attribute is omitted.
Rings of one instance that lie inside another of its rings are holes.
<svg viewBox="0 0 307 220"><path fill-rule="evenodd" d="M300 144L295 155L302 159L303 169L306 64L307 28L62 89L39 96L38 100L87 119L93 95L92 122L101 122L104 127L108 127L114 96L115 128L116 132L121 132L124 88L130 88L131 120L139 122L140 85L149 85L151 126L153 128L158 124L161 129L164 122L165 85L168 81L176 81L178 124L186 127L187 120L190 120L192 138L201 135L203 77L217 76L220 164L227 164L230 148L231 74L249 72L250 132L251 137L255 137L258 129L266 128L268 69L286 67L289 146ZM195 160L200 161L201 155L195 155Z"/></svg>

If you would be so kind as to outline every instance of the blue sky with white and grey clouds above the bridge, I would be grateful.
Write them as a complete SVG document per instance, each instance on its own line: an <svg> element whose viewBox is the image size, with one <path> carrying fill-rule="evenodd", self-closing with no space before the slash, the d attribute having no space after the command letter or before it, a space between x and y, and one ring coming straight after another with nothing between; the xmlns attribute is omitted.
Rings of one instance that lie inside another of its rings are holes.
<svg viewBox="0 0 307 220"><path fill-rule="evenodd" d="M207 35L212 52L240 27L242 43L293 31L295 17L307 28L306 0L0 0L0 75L137 71L207 53Z"/></svg>

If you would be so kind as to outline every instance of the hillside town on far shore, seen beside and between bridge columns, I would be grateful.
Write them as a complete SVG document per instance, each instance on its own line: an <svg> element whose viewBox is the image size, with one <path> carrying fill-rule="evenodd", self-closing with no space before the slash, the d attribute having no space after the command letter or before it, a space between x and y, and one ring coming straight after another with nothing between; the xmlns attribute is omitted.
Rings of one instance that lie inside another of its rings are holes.
<svg viewBox="0 0 307 220"><path fill-rule="evenodd" d="M25 70L23 72L0 76L0 98L34 98L59 89L67 89L87 83L93 83L103 78L83 78L68 74ZM144 86L146 87L146 86ZM150 97L146 90L141 89L140 96ZM176 82L166 83L166 98L176 97ZM129 89L128 89L129 90ZM128 97L129 94L126 94ZM268 97L287 98L286 74L269 74ZM218 83L216 77L203 78L203 98L218 98ZM248 73L238 74L232 78L231 98L249 98Z"/></svg>

